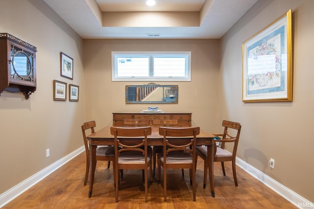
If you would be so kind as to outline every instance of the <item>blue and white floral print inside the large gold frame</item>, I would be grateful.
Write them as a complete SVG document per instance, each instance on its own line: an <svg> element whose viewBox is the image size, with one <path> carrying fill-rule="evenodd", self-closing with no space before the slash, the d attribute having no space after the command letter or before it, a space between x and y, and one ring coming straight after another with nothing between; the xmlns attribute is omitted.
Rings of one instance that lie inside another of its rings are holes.
<svg viewBox="0 0 314 209"><path fill-rule="evenodd" d="M247 51L247 93L269 93L282 90L287 69L287 55L282 45L282 28L254 43Z"/></svg>

